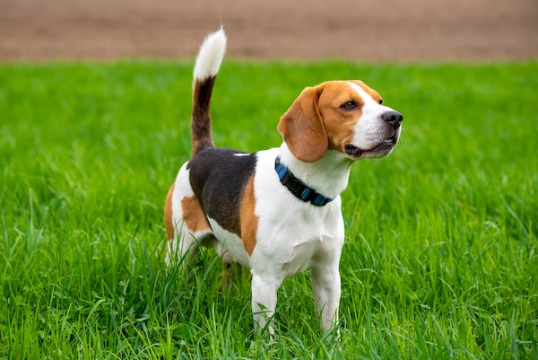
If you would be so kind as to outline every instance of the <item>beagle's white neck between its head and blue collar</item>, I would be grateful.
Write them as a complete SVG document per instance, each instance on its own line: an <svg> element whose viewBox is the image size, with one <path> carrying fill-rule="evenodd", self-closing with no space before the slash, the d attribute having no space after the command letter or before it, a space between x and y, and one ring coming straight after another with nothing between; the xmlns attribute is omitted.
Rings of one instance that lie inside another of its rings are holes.
<svg viewBox="0 0 538 360"><path fill-rule="evenodd" d="M340 152L328 150L317 162L301 162L282 143L280 156L296 178L327 198L336 198L347 187L353 161Z"/></svg>

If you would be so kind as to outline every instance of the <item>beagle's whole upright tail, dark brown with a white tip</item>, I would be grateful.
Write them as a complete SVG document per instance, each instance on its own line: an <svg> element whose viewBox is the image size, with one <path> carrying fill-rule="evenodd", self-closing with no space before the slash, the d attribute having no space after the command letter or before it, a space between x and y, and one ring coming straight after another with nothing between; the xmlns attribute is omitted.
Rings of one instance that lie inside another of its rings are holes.
<svg viewBox="0 0 538 360"><path fill-rule="evenodd" d="M209 104L213 83L225 50L226 34L221 28L205 38L196 57L191 123L193 156L204 149L215 147L211 133Z"/></svg>

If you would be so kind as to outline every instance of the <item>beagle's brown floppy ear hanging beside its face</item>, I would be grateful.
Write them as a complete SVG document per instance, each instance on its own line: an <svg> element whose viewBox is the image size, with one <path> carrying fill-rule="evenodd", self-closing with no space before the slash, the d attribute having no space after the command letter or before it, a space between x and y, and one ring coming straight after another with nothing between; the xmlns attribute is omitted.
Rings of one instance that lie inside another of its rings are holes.
<svg viewBox="0 0 538 360"><path fill-rule="evenodd" d="M317 162L329 147L329 139L317 106L320 93L319 86L303 90L278 123L278 131L291 154L302 162Z"/></svg>

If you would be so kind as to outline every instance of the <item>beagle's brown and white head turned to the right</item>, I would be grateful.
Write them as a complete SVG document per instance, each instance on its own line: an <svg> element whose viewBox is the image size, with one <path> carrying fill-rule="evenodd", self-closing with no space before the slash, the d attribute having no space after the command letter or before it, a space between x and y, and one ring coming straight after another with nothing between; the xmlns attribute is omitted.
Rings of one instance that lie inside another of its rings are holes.
<svg viewBox="0 0 538 360"><path fill-rule="evenodd" d="M316 162L329 149L351 160L386 156L398 142L404 118L382 102L360 81L321 83L300 93L278 131L303 162Z"/></svg>

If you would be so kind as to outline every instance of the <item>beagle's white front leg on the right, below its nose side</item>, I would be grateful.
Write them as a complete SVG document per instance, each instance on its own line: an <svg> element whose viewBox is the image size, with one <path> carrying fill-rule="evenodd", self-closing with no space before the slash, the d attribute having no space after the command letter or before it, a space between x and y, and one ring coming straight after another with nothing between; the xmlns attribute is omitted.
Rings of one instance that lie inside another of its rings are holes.
<svg viewBox="0 0 538 360"><path fill-rule="evenodd" d="M340 303L340 272L338 262L329 266L316 266L310 269L312 294L317 315L323 330L327 332L338 323L338 304Z"/></svg>

